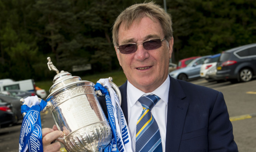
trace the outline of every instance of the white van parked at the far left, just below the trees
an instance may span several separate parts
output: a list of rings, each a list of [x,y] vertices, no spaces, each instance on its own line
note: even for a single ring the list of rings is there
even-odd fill
[[[35,83],[33,79],[13,81],[11,79],[0,80],[0,91],[7,90],[23,90],[23,91],[34,91]]]

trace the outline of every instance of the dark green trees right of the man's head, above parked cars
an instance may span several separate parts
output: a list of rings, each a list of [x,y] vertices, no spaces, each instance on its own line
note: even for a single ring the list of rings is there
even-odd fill
[[[174,0],[173,18],[176,62],[196,55],[216,54],[255,43],[256,3],[253,0]]]

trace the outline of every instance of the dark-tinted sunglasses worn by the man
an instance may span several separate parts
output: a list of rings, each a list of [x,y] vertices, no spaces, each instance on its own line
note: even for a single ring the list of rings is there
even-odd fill
[[[143,45],[144,49],[146,50],[155,50],[158,49],[162,46],[162,41],[165,38],[163,38],[162,40],[160,38],[156,38],[156,39],[150,39],[150,40],[146,40],[142,43],[128,43],[128,44],[123,44],[123,45],[119,45],[117,47],[117,49],[120,51],[120,53],[122,54],[130,54],[130,53],[134,53],[137,51],[137,46],[138,45]]]

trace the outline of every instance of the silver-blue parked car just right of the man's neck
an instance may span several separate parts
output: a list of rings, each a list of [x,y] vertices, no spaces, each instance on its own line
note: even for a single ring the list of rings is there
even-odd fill
[[[212,55],[198,57],[195,60],[193,60],[192,62],[190,62],[187,65],[187,67],[174,70],[174,71],[170,72],[169,74],[171,75],[171,77],[173,77],[175,79],[183,80],[183,81],[187,81],[188,79],[192,79],[192,78],[194,78],[194,79],[200,78],[200,68],[201,68],[204,60],[210,56],[212,56]]]

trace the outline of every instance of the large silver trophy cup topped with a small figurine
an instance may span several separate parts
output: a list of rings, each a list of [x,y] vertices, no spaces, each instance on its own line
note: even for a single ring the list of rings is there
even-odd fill
[[[100,152],[112,139],[112,130],[97,99],[103,96],[95,90],[95,84],[82,81],[69,72],[58,71],[48,57],[49,70],[56,71],[49,89],[50,101],[43,111],[49,109],[58,129],[65,131],[61,139],[70,152]],[[121,102],[118,87],[109,78],[112,88]],[[46,99],[46,100],[47,100]],[[21,100],[22,103],[23,100]],[[120,103],[121,104],[121,103]],[[68,134],[67,134],[68,133]]]

